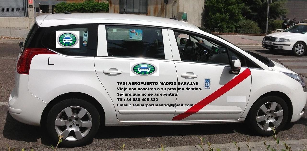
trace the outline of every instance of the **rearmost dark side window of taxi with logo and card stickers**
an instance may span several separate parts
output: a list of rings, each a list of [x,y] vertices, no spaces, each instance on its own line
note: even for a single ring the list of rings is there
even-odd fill
[[[97,56],[98,24],[48,27],[42,44],[69,56]]]

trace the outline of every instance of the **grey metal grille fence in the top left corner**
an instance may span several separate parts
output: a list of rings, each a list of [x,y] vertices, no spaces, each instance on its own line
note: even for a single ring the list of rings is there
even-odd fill
[[[27,0],[0,0],[0,17],[27,16]]]

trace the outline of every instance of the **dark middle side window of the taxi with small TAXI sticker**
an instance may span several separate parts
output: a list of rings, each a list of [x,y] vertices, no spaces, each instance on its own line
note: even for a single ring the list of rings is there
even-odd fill
[[[164,59],[162,30],[135,26],[106,26],[108,56]]]

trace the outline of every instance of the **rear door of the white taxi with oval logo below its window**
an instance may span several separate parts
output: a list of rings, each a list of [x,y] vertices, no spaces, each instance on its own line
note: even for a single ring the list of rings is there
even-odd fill
[[[177,73],[167,29],[99,25],[97,76],[120,121],[169,121]],[[171,89],[173,88],[173,89]]]

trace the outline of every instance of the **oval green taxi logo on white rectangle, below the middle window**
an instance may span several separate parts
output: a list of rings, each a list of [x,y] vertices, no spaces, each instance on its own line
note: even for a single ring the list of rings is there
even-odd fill
[[[157,65],[130,62],[130,76],[159,76]]]

